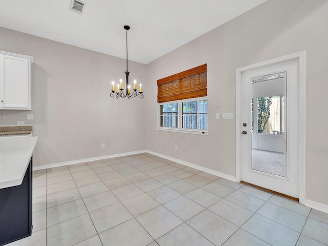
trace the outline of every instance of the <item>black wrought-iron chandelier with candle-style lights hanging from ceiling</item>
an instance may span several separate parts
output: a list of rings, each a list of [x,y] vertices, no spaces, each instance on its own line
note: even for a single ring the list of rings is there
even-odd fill
[[[122,79],[119,80],[119,84],[117,84],[117,89],[115,91],[115,82],[112,82],[112,93],[110,94],[111,97],[116,97],[117,99],[119,97],[128,97],[129,99],[131,97],[140,96],[140,98],[143,98],[144,95],[142,94],[142,87],[141,84],[139,85],[139,91],[137,90],[137,81],[134,80],[134,86],[133,89],[131,89],[129,85],[129,71],[128,71],[128,30],[130,29],[129,26],[124,26],[124,29],[127,30],[127,71],[125,71],[126,75],[126,92],[124,93],[123,85],[122,85]]]

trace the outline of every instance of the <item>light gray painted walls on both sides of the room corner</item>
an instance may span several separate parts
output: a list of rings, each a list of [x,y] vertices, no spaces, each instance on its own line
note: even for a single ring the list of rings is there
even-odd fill
[[[269,0],[148,65],[131,62],[131,78],[145,90],[132,102],[109,98],[124,60],[0,28],[0,50],[35,60],[35,165],[148,149],[235,176],[235,120],[215,113],[235,116],[236,68],[306,50],[306,199],[328,205],[326,13],[326,0]],[[156,80],[205,63],[209,135],[156,131]],[[26,121],[27,113],[0,111],[0,124]]]

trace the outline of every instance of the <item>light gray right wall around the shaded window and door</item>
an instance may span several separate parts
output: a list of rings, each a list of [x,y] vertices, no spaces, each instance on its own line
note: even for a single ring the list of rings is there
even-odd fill
[[[235,176],[236,68],[306,51],[306,199],[328,205],[328,1],[269,0],[148,65],[146,148]],[[156,131],[156,80],[208,64],[209,135]],[[219,109],[216,106],[219,105]],[[179,150],[174,149],[179,146]]]

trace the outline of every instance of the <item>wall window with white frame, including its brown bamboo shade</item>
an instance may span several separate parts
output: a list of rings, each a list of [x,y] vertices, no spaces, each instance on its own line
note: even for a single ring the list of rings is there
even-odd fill
[[[158,130],[207,133],[207,65],[157,80]]]

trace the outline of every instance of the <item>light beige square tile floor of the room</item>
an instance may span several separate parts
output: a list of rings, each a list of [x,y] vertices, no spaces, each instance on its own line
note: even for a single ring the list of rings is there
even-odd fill
[[[34,171],[33,224],[8,245],[328,245],[328,214],[147,153]]]

